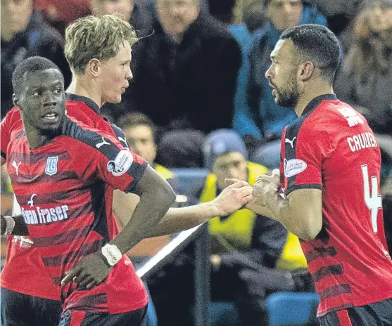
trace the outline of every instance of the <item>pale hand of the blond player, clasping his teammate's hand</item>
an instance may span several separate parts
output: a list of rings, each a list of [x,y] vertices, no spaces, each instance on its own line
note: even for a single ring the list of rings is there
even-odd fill
[[[226,179],[225,182],[229,186],[213,200],[218,216],[232,214],[252,200],[253,188],[249,183],[237,179]]]

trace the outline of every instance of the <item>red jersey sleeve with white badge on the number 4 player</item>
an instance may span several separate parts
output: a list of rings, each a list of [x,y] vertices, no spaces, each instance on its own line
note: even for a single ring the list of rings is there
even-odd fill
[[[329,152],[328,133],[312,131],[303,124],[301,129],[286,129],[282,138],[286,195],[296,189],[322,189],[322,162]]]

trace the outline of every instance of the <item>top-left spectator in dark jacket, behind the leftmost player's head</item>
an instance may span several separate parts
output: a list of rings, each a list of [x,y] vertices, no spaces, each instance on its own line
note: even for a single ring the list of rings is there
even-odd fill
[[[25,58],[44,56],[56,63],[70,82],[70,68],[63,54],[64,40],[42,20],[32,0],[1,1],[1,117],[13,107],[11,77]]]

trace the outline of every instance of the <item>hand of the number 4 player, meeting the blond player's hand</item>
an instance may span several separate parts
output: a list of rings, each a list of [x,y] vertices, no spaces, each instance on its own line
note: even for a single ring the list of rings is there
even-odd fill
[[[270,206],[279,196],[280,174],[278,169],[272,171],[272,176],[260,174],[253,185],[253,203],[262,207]]]

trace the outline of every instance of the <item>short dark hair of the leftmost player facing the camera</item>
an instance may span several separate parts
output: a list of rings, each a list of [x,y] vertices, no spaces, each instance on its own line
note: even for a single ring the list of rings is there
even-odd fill
[[[34,72],[38,70],[56,69],[61,73],[60,68],[51,62],[51,60],[40,56],[34,56],[23,60],[13,71],[12,86],[13,92],[19,94],[22,89],[23,77],[25,72]],[[61,73],[61,76],[63,74]],[[64,79],[64,77],[63,77]]]

